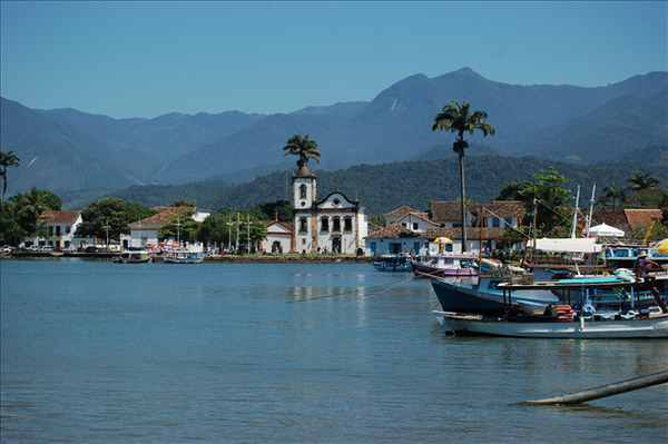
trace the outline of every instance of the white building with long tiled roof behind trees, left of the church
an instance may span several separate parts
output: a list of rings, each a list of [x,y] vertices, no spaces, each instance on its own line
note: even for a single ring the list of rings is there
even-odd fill
[[[204,221],[210,215],[210,211],[198,210],[195,207],[155,207],[154,209],[159,213],[130,224],[130,235],[122,235],[120,239],[124,248],[144,248],[149,244],[158,246],[161,241],[179,241],[178,235],[177,239],[161,239],[158,236],[158,230],[167,225],[173,225],[174,218],[177,223],[179,219],[186,220],[188,218]],[[203,248],[204,246],[199,243],[188,245],[190,250],[200,251]]]

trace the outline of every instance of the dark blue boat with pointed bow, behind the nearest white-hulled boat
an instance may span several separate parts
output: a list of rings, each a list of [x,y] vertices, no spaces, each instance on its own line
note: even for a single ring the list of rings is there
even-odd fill
[[[541,314],[550,304],[559,302],[549,289],[522,292],[509,302],[499,285],[508,279],[531,280],[530,274],[503,276],[483,275],[471,278],[432,279],[432,288],[444,312],[500,316],[507,309],[517,313]]]

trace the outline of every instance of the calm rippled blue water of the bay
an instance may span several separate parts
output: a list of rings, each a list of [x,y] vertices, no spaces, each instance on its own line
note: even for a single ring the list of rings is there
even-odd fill
[[[0,262],[2,443],[666,442],[664,341],[443,334],[371,265]],[[409,278],[409,280],[405,280]]]

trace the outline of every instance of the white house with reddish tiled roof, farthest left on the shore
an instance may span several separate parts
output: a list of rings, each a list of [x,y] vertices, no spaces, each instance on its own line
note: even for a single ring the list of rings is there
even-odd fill
[[[43,211],[38,219],[45,224],[47,237],[28,238],[24,247],[49,246],[53,249],[77,249],[95,245],[94,238],[77,238],[77,227],[84,223],[81,211]]]

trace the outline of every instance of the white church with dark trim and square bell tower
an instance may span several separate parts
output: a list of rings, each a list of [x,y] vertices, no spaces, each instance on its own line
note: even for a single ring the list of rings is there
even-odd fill
[[[317,200],[316,177],[305,162],[293,174],[294,233],[292,250],[297,253],[363,251],[366,215],[357,199],[333,191]]]

